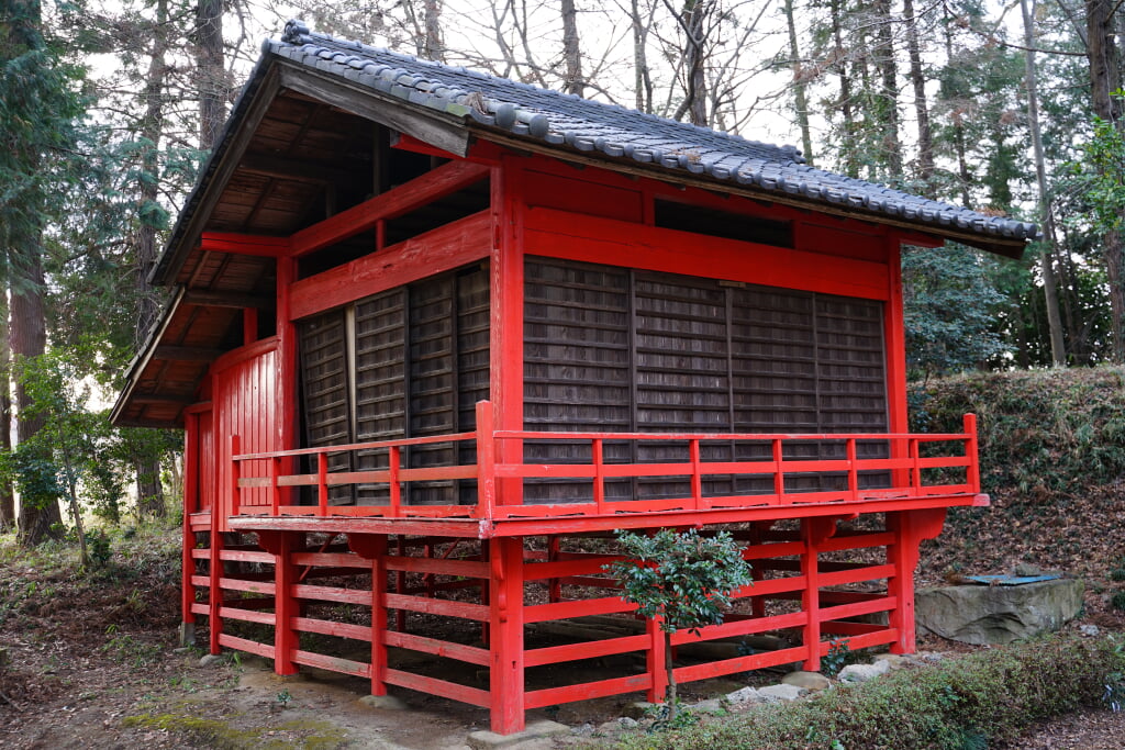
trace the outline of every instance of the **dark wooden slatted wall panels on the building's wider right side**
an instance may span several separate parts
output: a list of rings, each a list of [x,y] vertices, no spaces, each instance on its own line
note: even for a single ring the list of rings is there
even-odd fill
[[[882,302],[684,274],[529,257],[524,423],[546,432],[825,433],[886,430]],[[766,459],[766,443],[704,444],[701,460]],[[786,459],[844,458],[794,445]],[[862,444],[861,458],[885,455]],[[590,443],[528,441],[529,463],[588,462]],[[839,455],[836,455],[836,453]],[[604,460],[687,460],[686,443],[606,442]],[[885,484],[864,477],[864,486]],[[845,477],[794,476],[786,491]],[[770,477],[710,477],[703,494],[765,494]],[[608,499],[690,493],[688,479],[606,482]],[[526,480],[525,503],[590,501],[591,482]]]

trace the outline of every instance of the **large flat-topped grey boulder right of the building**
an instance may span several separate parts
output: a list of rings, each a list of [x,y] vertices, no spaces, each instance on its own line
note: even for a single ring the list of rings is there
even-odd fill
[[[1011,643],[1058,631],[1082,608],[1082,581],[919,589],[918,633],[963,643]]]

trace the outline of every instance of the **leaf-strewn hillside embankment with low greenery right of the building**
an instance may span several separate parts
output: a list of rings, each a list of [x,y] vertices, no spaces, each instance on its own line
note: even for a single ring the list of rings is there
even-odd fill
[[[1092,622],[1120,627],[1125,369],[973,373],[911,387],[912,430],[955,432],[965,413],[978,418],[992,506],[951,509],[922,548],[921,582],[1019,564],[1061,571],[1086,579]]]

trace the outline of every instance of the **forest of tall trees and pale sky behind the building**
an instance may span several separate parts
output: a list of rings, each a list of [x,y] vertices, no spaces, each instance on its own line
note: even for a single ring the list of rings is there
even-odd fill
[[[1036,222],[1023,262],[904,252],[925,381],[1125,361],[1123,6],[0,0],[0,532],[35,545],[81,539],[91,515],[173,513],[180,435],[112,427],[104,407],[160,316],[164,236],[289,17]]]

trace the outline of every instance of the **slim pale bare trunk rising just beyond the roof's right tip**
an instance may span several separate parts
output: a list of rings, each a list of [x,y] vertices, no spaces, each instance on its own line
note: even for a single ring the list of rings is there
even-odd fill
[[[907,0],[909,2],[909,0]],[[1059,292],[1055,283],[1054,255],[1055,232],[1054,217],[1051,215],[1051,204],[1047,198],[1046,166],[1043,163],[1043,138],[1040,135],[1040,99],[1035,75],[1035,0],[1028,7],[1028,0],[1019,0],[1024,15],[1024,53],[1027,65],[1027,125],[1032,132],[1032,148],[1035,153],[1035,179],[1038,183],[1040,222],[1043,225],[1043,240],[1040,251],[1040,266],[1043,270],[1043,295],[1047,308],[1047,328],[1051,333],[1051,361],[1055,367],[1066,364],[1066,349],[1062,338],[1062,318],[1059,315]]]

